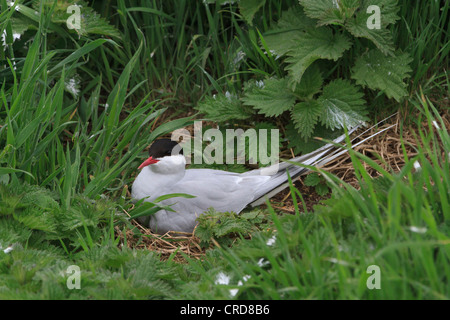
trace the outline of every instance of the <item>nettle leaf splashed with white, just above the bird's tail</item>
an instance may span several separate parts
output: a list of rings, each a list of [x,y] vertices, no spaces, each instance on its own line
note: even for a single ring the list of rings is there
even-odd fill
[[[363,93],[348,80],[337,79],[323,88],[318,102],[321,122],[332,130],[352,127],[367,120]]]

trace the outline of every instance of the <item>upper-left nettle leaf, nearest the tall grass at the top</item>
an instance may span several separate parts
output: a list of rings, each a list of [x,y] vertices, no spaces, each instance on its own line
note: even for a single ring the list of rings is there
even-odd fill
[[[276,27],[264,34],[264,41],[274,54],[282,56],[297,46],[307,30],[316,27],[316,20],[305,15],[299,6],[283,12]]]

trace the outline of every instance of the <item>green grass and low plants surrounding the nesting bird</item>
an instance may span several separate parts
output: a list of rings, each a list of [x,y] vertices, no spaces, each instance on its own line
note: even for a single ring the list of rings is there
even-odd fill
[[[0,1],[0,34],[6,30],[9,44],[0,48],[0,298],[450,298],[450,138],[436,110],[448,108],[447,3],[400,1],[395,43],[414,57],[407,104],[420,115],[410,117],[419,128],[417,155],[402,150],[401,172],[349,150],[360,190],[321,172],[332,199],[308,212],[291,186],[296,214],[269,206],[261,231],[250,225],[253,213],[227,215],[230,230],[242,233],[232,247],[212,214],[202,222],[202,240],[216,237],[222,247],[183,264],[122,247],[114,232],[139,237],[123,210],[142,212],[130,210],[127,188],[143,150],[189,124],[179,114],[192,112],[202,96],[281,75],[258,32],[297,2],[267,0],[253,26],[237,5],[111,3],[93,7],[111,17],[120,37],[79,38],[46,13],[29,14],[34,27],[13,42],[19,14]],[[233,64],[241,51],[245,58]],[[78,95],[66,85],[76,75]],[[374,97],[373,105],[382,102]],[[370,178],[363,163],[381,177]],[[80,267],[80,290],[67,288],[70,265]],[[367,288],[371,265],[380,268],[380,290]]]

